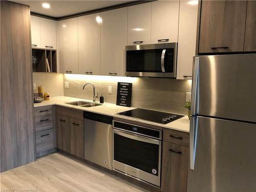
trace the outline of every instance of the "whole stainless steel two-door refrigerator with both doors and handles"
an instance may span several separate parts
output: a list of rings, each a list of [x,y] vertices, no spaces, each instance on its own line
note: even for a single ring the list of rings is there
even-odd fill
[[[256,191],[256,54],[194,57],[188,192]]]

